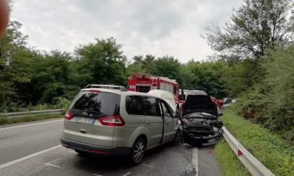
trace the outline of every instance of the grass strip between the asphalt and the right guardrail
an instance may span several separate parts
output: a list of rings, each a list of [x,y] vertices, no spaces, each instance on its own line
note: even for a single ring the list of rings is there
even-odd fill
[[[223,174],[226,176],[250,176],[251,174],[242,165],[241,161],[237,159],[237,156],[230,145],[223,139],[218,142],[215,148],[216,158],[220,164]]]

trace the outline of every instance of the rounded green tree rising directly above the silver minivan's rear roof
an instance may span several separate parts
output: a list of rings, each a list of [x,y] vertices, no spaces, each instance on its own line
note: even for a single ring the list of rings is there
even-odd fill
[[[83,80],[80,85],[115,84],[126,85],[125,63],[127,61],[122,45],[114,38],[99,39],[95,43],[76,48],[78,63],[76,69]]]

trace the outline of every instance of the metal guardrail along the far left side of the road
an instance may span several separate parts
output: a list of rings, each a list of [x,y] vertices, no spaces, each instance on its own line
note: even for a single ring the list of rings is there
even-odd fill
[[[29,112],[10,112],[10,113],[1,113],[0,116],[8,117],[8,119],[14,119],[19,117],[29,117],[29,116],[36,116],[36,115],[57,115],[64,113],[64,109],[59,110],[35,110]]]

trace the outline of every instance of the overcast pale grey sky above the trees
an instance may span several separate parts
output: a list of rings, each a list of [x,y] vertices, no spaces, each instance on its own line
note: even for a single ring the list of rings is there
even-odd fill
[[[212,54],[200,37],[220,26],[241,0],[13,0],[11,19],[23,24],[29,45],[72,52],[94,38],[113,36],[124,54],[172,55],[181,62]]]

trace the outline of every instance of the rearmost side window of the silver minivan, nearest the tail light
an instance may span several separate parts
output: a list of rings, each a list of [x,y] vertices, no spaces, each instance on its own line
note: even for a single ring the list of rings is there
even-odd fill
[[[141,96],[126,96],[125,109],[129,115],[144,115],[144,105]]]

